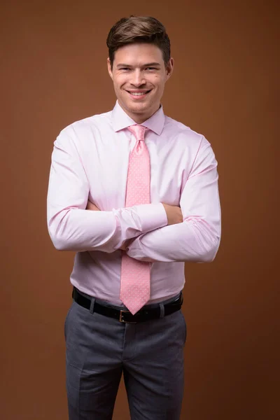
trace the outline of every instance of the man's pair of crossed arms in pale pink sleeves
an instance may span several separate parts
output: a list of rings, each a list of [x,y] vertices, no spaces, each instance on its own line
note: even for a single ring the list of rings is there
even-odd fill
[[[125,249],[143,261],[214,259],[221,236],[217,163],[204,140],[181,193],[180,207],[141,204],[98,211],[71,138],[55,141],[48,188],[48,230],[61,251]],[[94,210],[94,211],[88,211]]]

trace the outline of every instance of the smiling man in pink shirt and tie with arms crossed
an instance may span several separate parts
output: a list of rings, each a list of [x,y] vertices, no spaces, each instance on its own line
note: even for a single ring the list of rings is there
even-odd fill
[[[55,141],[48,229],[76,251],[65,321],[69,419],[111,419],[124,374],[133,420],[177,420],[183,396],[184,261],[209,262],[221,235],[209,142],[163,113],[169,37],[123,18],[107,38],[113,111]]]

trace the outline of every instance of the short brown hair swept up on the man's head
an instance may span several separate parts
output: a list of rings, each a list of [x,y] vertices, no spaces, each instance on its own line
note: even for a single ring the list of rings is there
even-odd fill
[[[158,19],[151,16],[133,16],[122,18],[111,27],[107,36],[111,67],[118,48],[130,43],[153,43],[162,50],[165,65],[170,59],[170,40],[165,27]]]

